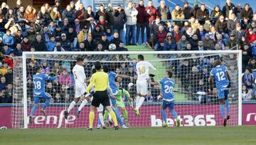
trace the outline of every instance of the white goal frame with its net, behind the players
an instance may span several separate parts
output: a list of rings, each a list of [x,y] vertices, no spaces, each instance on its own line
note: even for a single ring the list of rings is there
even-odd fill
[[[31,82],[28,79],[28,74],[32,69],[28,70],[28,65],[31,59],[38,59],[38,62],[50,62],[54,63],[56,60],[65,61],[70,64],[70,68],[72,69],[75,64],[75,58],[80,56],[90,56],[87,57],[87,62],[95,62],[100,56],[105,56],[104,59],[101,60],[102,64],[110,63],[110,65],[121,67],[122,62],[125,63],[124,69],[128,70],[129,67],[132,67],[132,61],[134,58],[137,58],[138,54],[143,54],[144,59],[146,61],[151,62],[154,66],[156,65],[156,71],[150,71],[151,74],[155,74],[154,76],[157,79],[162,79],[166,70],[171,69],[172,71],[177,71],[174,73],[174,79],[177,81],[178,86],[176,86],[176,96],[178,100],[176,100],[176,108],[178,116],[183,119],[183,126],[211,126],[211,125],[220,125],[220,109],[218,102],[215,101],[216,97],[212,94],[210,97],[203,96],[198,93],[197,89],[200,89],[200,83],[198,81],[201,80],[201,76],[191,76],[192,71],[187,71],[186,74],[190,77],[189,82],[196,80],[196,85],[193,86],[188,84],[188,82],[183,83],[182,81],[182,65],[185,61],[191,63],[192,60],[198,60],[200,64],[190,64],[191,68],[198,69],[197,71],[203,72],[204,69],[210,69],[213,66],[210,64],[210,59],[213,58],[219,59],[220,57],[223,59],[223,62],[227,65],[232,65],[235,67],[235,71],[238,71],[237,74],[231,76],[231,79],[235,78],[235,88],[233,89],[232,97],[230,97],[230,112],[231,112],[231,120],[230,125],[242,125],[242,51],[240,50],[218,50],[218,51],[142,51],[142,52],[23,52],[23,57],[14,59],[14,66],[16,69],[14,70],[14,105],[12,107],[12,125],[14,128],[55,128],[55,127],[85,127],[88,123],[88,106],[87,104],[84,108],[83,118],[76,118],[75,111],[71,112],[73,116],[70,116],[70,120],[64,120],[63,113],[64,109],[68,108],[70,102],[67,98],[64,98],[62,103],[51,103],[51,107],[46,108],[46,112],[49,112],[48,117],[36,116],[35,122],[30,126],[28,124],[28,115],[31,110],[32,104],[28,103],[28,93],[31,93],[30,89],[28,89],[28,85]],[[111,59],[110,56],[123,56],[129,55],[129,59],[125,60],[114,60]],[[233,55],[233,57],[230,57]],[[106,59],[107,58],[107,59]],[[205,65],[201,65],[201,62],[206,63]],[[21,63],[21,64],[19,64]],[[118,63],[118,64],[117,64]],[[121,64],[120,64],[121,63]],[[196,62],[195,62],[196,63]],[[39,63],[38,63],[39,64]],[[35,65],[38,65],[35,64]],[[209,67],[208,67],[209,66]],[[52,66],[54,67],[54,66]],[[90,65],[87,66],[90,69]],[[196,68],[195,68],[196,67]],[[68,71],[72,76],[72,70]],[[22,76],[22,80],[18,81],[18,77]],[[86,76],[90,76],[86,74]],[[203,76],[202,76],[203,77]],[[71,77],[72,78],[72,77]],[[136,77],[135,77],[136,78]],[[88,77],[87,77],[88,79]],[[192,80],[192,81],[191,81]],[[203,80],[203,79],[202,79]],[[22,82],[22,83],[21,83]],[[126,80],[122,80],[120,82],[126,82]],[[134,81],[133,81],[134,82]],[[136,81],[135,81],[136,82]],[[135,83],[132,83],[135,85]],[[203,84],[207,88],[207,84]],[[22,89],[21,89],[22,86]],[[128,86],[124,85],[124,88]],[[69,86],[70,90],[74,85]],[[160,86],[161,87],[161,86]],[[190,88],[189,90],[186,88]],[[66,88],[65,88],[66,89]],[[151,88],[151,92],[154,89]],[[193,90],[193,91],[192,91]],[[196,90],[196,91],[195,91]],[[207,90],[207,89],[206,89]],[[67,91],[66,91],[67,92]],[[73,95],[73,91],[70,92]],[[130,92],[131,93],[131,92]],[[154,94],[149,94],[152,96],[153,100],[145,101],[142,105],[142,112],[140,117],[135,117],[132,108],[129,107],[127,100],[123,98],[125,104],[127,105],[127,111],[129,114],[129,122],[134,127],[156,127],[160,126],[161,122],[161,91],[157,96],[153,96]],[[160,96],[160,97],[159,97]],[[65,96],[64,96],[65,97]],[[54,98],[54,96],[53,96]],[[70,99],[68,98],[68,99]],[[30,98],[33,100],[33,98]],[[204,100],[202,100],[204,99]],[[134,98],[135,100],[135,98]],[[79,106],[76,105],[76,107]],[[144,106],[144,107],[143,107]],[[21,109],[22,108],[22,109]],[[38,109],[40,110],[40,109]],[[58,111],[57,111],[58,110]],[[154,112],[156,111],[156,112]],[[39,112],[39,111],[38,111]],[[38,113],[36,112],[36,113]],[[59,116],[58,116],[59,115]],[[171,114],[168,117],[171,118]],[[79,121],[76,121],[79,120]],[[174,125],[174,120],[169,120],[170,126]],[[75,122],[75,123],[74,123]],[[95,121],[97,122],[97,121]],[[53,124],[51,124],[53,123]],[[55,123],[55,124],[54,124]]]

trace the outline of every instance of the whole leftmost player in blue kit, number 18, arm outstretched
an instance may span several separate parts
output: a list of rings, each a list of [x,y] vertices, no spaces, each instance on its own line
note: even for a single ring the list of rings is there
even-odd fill
[[[51,96],[50,94],[46,93],[45,91],[45,85],[46,80],[53,81],[57,79],[57,76],[48,76],[46,74],[42,73],[40,67],[36,68],[36,74],[33,75],[33,95],[34,95],[34,105],[31,110],[31,114],[29,115],[29,123],[32,123],[32,117],[36,112],[36,109],[38,108],[38,103],[40,103],[41,99],[46,99],[46,102],[43,104],[43,108],[41,109],[41,112],[43,115],[46,115],[46,107],[50,104]]]

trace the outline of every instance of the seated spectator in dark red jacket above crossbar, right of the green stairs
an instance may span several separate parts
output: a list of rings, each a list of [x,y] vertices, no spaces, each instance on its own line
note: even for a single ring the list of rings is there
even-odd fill
[[[166,40],[166,30],[164,30],[164,26],[160,25],[159,30],[155,34],[155,45],[154,50],[164,50],[164,41]]]

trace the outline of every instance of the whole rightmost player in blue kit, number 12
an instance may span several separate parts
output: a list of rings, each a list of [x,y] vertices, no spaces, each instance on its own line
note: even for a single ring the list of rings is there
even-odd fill
[[[210,71],[210,91],[213,91],[213,78],[216,81],[218,99],[220,101],[220,112],[223,117],[223,126],[227,125],[227,120],[230,119],[230,106],[228,103],[228,91],[231,86],[230,75],[228,74],[227,66],[221,64],[220,60],[215,62],[215,67]],[[225,105],[225,107],[224,107]],[[225,108],[227,117],[225,117]]]

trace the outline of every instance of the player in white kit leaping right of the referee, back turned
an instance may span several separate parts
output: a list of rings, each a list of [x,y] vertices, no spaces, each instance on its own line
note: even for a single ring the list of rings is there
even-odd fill
[[[148,93],[148,80],[149,80],[149,69],[156,68],[149,62],[144,61],[144,56],[142,54],[138,55],[138,62],[136,64],[137,69],[137,98],[136,98],[136,108],[134,112],[139,116],[139,108],[142,106],[145,96]]]

